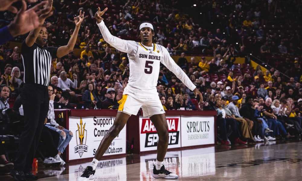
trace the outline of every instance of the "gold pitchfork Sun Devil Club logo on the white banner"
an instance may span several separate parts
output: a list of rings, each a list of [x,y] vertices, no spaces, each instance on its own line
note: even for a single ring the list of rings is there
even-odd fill
[[[82,118],[80,119],[80,125],[77,123],[78,126],[78,130],[76,130],[77,146],[74,149],[75,149],[75,153],[79,153],[80,157],[82,157],[83,153],[87,152],[88,150],[88,146],[85,145],[87,139],[87,131],[85,130],[85,124],[83,125]]]

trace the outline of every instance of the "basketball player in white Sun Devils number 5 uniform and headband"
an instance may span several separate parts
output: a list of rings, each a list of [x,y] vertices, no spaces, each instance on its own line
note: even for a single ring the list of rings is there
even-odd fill
[[[86,167],[79,181],[87,181],[88,179],[94,178],[98,161],[112,140],[124,128],[128,118],[132,114],[136,115],[140,107],[143,109],[143,116],[148,116],[153,122],[159,136],[157,159],[152,176],[155,178],[177,179],[178,175],[169,172],[163,165],[168,148],[169,132],[165,111],[156,90],[160,63],[165,65],[182,80],[188,88],[193,90],[195,97],[197,97],[197,95],[200,96],[199,103],[202,102],[203,97],[185,72],[183,72],[170,57],[168,50],[161,45],[152,43],[152,39],[156,34],[153,24],[150,22],[140,23],[137,35],[140,37],[141,42],[121,40],[120,38],[112,36],[105,26],[104,21],[102,21],[103,18],[101,16],[107,9],[108,8],[105,8],[104,11],[101,11],[100,8],[98,8],[98,11],[95,13],[97,25],[106,42],[121,52],[127,52],[130,77],[127,87],[124,89],[123,97],[119,101],[120,106],[114,124],[102,139],[91,165]]]

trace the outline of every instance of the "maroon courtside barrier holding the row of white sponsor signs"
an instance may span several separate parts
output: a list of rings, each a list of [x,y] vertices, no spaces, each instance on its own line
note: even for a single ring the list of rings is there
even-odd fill
[[[89,160],[114,123],[117,110],[55,110],[57,122],[72,131],[64,158],[67,162]],[[166,111],[168,150],[196,148],[216,143],[216,111]],[[112,141],[104,157],[128,153],[156,152],[158,135],[149,118],[130,116],[126,126]],[[128,144],[127,144],[128,142]]]

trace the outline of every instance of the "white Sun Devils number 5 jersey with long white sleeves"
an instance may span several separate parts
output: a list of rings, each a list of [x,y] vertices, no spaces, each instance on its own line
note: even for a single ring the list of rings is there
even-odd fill
[[[122,40],[111,35],[104,21],[97,25],[104,40],[121,52],[126,52],[129,58],[130,76],[123,94],[139,98],[158,97],[156,85],[160,63],[172,71],[190,90],[196,88],[165,47],[155,43],[148,47],[135,41]]]

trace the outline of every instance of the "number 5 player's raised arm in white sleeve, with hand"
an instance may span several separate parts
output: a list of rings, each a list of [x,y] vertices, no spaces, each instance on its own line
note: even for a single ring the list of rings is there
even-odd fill
[[[104,40],[114,48],[120,50],[121,52],[134,53],[133,50],[136,50],[138,47],[136,42],[122,40],[118,37],[113,36],[104,24],[104,18],[102,18],[102,15],[107,11],[107,9],[108,8],[105,8],[103,11],[101,11],[101,8],[98,7],[98,11],[95,13],[95,20],[102,33]]]

